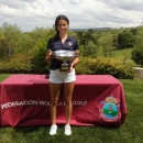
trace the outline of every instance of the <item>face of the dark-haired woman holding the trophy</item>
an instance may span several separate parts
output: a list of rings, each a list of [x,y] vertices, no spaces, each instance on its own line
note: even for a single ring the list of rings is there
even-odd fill
[[[65,20],[59,20],[57,24],[59,34],[65,34],[68,31],[68,23]]]

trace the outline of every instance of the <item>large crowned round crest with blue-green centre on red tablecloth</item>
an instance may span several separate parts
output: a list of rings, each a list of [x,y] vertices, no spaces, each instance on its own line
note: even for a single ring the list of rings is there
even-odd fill
[[[100,118],[105,121],[113,122],[121,118],[120,106],[117,105],[118,100],[114,97],[107,97],[106,101],[101,101],[102,108],[99,109]]]

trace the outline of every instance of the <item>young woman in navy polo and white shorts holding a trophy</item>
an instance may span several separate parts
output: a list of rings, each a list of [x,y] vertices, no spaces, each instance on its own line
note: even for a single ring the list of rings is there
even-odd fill
[[[76,80],[75,65],[79,62],[79,47],[78,42],[75,37],[72,37],[67,34],[69,28],[69,20],[66,15],[58,15],[55,20],[55,30],[56,35],[48,40],[46,46],[46,62],[51,63],[51,73],[50,73],[50,89],[51,89],[51,120],[52,127],[50,134],[56,134],[56,107],[58,102],[61,85],[64,84],[64,100],[65,100],[65,134],[70,135],[70,117],[73,110],[73,90]],[[62,61],[56,58],[53,54],[53,51],[74,51],[77,56],[69,62],[68,72],[61,72]]]

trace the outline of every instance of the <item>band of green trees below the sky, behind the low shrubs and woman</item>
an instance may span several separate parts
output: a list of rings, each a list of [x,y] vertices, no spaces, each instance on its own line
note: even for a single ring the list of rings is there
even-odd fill
[[[54,28],[35,28],[23,33],[16,24],[4,22],[0,26],[0,59],[14,54],[32,56],[38,48],[45,51],[47,40],[54,35]],[[143,26],[72,29],[69,35],[78,38],[81,57],[112,57],[113,51],[133,48],[132,59],[143,64]]]

